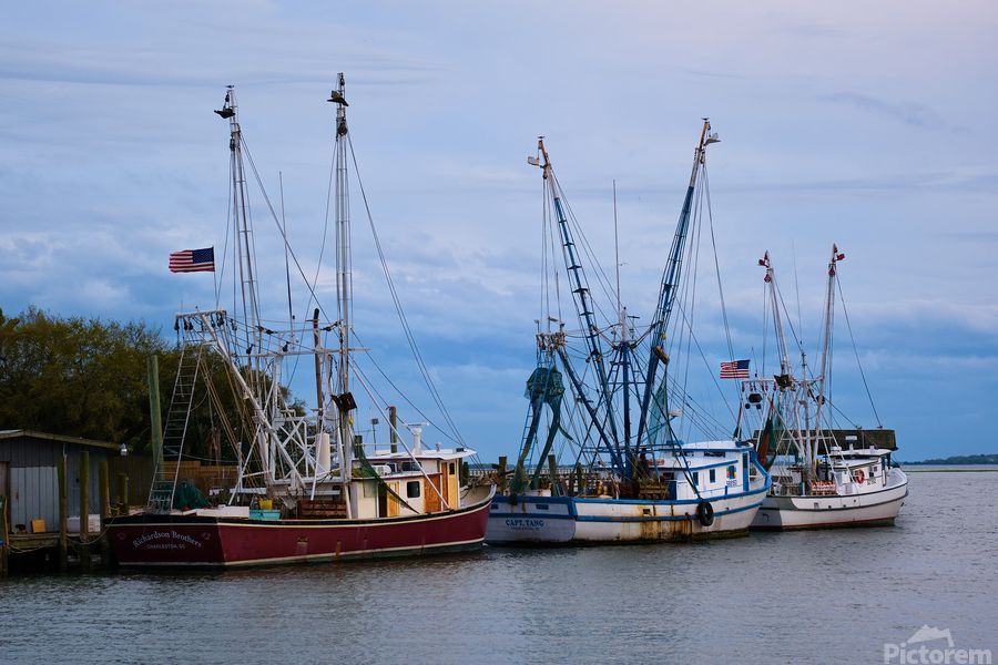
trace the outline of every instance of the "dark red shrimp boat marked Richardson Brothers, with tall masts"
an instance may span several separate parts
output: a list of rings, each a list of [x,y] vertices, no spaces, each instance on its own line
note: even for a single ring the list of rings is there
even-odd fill
[[[201,379],[208,383],[203,399],[220,405],[221,429],[230,436],[237,456],[238,477],[235,487],[224,493],[226,500],[184,510],[184,503],[196,502],[179,500],[180,464],[167,472],[160,453],[146,509],[110,523],[109,541],[120,565],[284,564],[431,554],[482,544],[495,487],[467,480],[462,462],[475,452],[459,440],[452,448],[425,447],[422,427],[427,423],[403,422],[360,370],[358,351],[367,349],[354,348],[352,325],[346,198],[350,153],[343,74],[329,101],[336,105],[337,309],[335,316],[324,319],[317,307],[310,326],[297,329],[288,313],[286,330],[272,329],[273,319],[261,317],[245,143],[232,86],[224,106],[216,111],[230,126],[231,237],[237,262],[233,293],[240,298],[233,311],[216,307],[176,315],[180,369],[164,437],[157,446],[177,461],[183,458],[191,408],[202,399],[195,397]],[[284,249],[291,253],[284,227],[276,214],[273,217]],[[387,264],[383,267],[390,280]],[[312,286],[308,288],[315,297]],[[291,301],[288,290],[288,309]],[[332,337],[334,344],[325,346],[325,337]],[[288,361],[308,357],[314,359],[316,381],[316,408],[310,416],[301,405],[289,403],[281,385]],[[221,389],[230,386],[210,383],[212,362],[224,366],[223,376],[242,405],[244,417],[238,423],[227,421],[221,407]],[[366,444],[355,431],[360,393],[369,398],[371,408],[388,415],[389,446],[383,449]],[[237,440],[240,431],[248,432],[246,446]]]

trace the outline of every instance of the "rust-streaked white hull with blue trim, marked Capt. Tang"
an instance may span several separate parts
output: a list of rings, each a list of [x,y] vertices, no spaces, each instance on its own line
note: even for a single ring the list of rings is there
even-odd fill
[[[711,498],[714,520],[696,516],[699,501],[581,497],[511,497],[492,502],[486,542],[493,545],[569,545],[684,542],[748,532],[768,482],[747,492]]]

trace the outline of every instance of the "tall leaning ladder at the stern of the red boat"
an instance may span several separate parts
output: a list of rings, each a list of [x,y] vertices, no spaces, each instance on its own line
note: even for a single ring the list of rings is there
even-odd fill
[[[181,348],[173,396],[170,399],[166,424],[163,427],[163,452],[161,459],[156,461],[156,471],[149,491],[150,512],[165,513],[173,508],[173,493],[176,491],[184,439],[194,405],[194,386],[201,370],[201,354],[204,347],[203,344],[187,344]],[[176,459],[172,474],[164,469],[163,461],[167,457]]]

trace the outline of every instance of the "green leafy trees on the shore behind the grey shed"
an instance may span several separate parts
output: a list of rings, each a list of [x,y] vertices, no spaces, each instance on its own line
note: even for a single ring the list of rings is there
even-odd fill
[[[16,317],[0,310],[0,429],[34,429],[147,452],[150,354],[159,357],[165,423],[180,352],[157,328],[144,321],[60,317],[34,307]],[[216,357],[206,365],[224,418],[237,439],[248,441],[238,410],[242,400],[235,399],[223,364]],[[218,446],[222,420],[211,400],[195,393],[185,454],[234,459],[230,446]]]

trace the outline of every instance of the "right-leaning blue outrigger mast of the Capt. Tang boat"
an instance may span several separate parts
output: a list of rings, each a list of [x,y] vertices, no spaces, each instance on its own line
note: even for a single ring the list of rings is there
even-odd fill
[[[651,351],[648,359],[648,370],[644,377],[644,395],[641,398],[641,411],[638,418],[638,442],[641,442],[648,426],[648,412],[652,393],[655,388],[655,372],[660,362],[661,345],[665,341],[665,331],[669,329],[669,317],[675,301],[680,277],[682,274],[683,250],[686,244],[686,235],[690,229],[690,215],[693,208],[693,192],[696,188],[696,176],[700,174],[706,160],[706,146],[717,143],[717,134],[711,134],[711,121],[703,119],[703,130],[700,132],[700,143],[693,153],[693,170],[690,174],[690,184],[686,187],[686,196],[683,200],[683,208],[680,212],[675,235],[672,238],[672,248],[669,252],[669,263],[662,274],[662,284],[659,288],[659,300],[655,314],[652,317]],[[658,351],[656,351],[658,349]],[[664,357],[664,355],[663,355]],[[663,361],[664,364],[664,361]],[[666,419],[668,422],[668,419]]]

